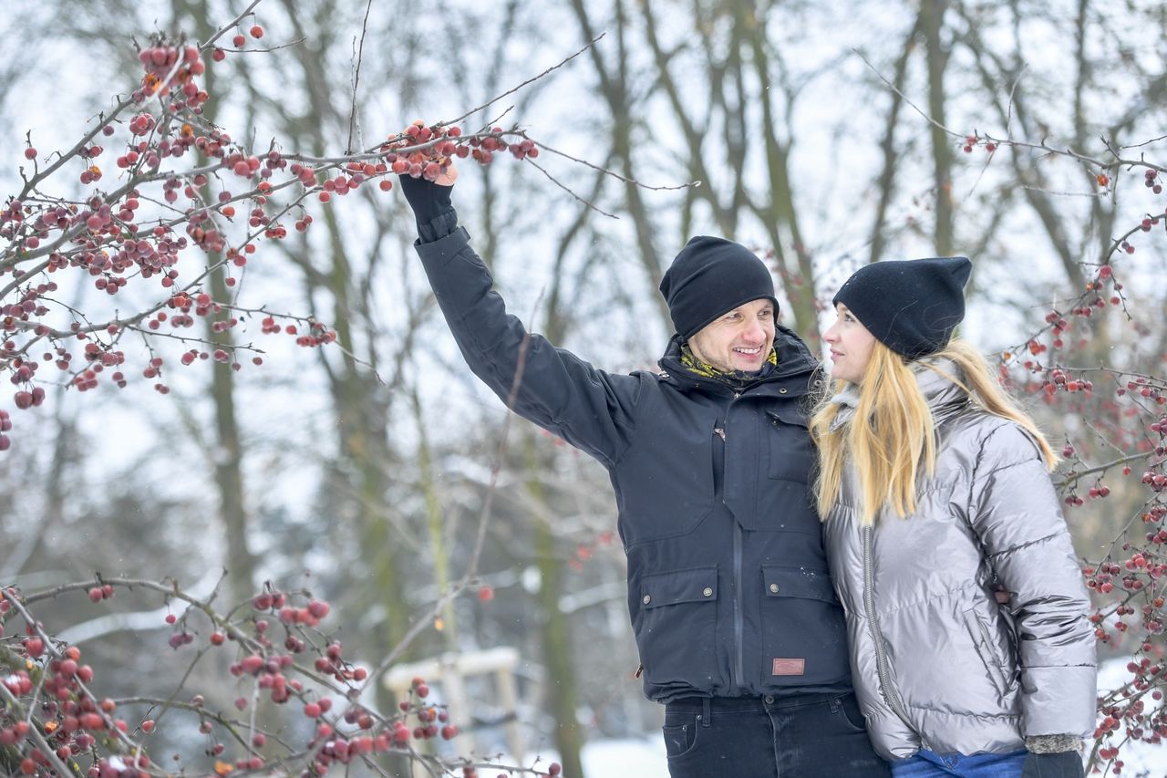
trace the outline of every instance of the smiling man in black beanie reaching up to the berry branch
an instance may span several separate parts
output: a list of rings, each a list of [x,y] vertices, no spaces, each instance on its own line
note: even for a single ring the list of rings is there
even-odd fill
[[[766,265],[729,241],[690,241],[661,282],[676,327],[662,371],[609,374],[506,313],[457,227],[453,178],[401,176],[418,253],[475,375],[506,401],[525,342],[515,411],[608,468],[670,773],[888,774],[852,695],[809,495],[802,400],[817,363],[775,324]]]

